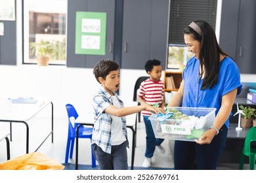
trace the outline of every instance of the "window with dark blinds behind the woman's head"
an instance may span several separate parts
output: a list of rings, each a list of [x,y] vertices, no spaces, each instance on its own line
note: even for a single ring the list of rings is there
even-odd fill
[[[192,21],[204,20],[215,29],[218,0],[172,0],[170,4],[167,69],[186,65],[187,52],[183,31]]]

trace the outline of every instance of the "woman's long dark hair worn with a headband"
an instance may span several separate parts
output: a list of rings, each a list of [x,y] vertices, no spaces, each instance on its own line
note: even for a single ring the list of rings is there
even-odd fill
[[[202,71],[200,80],[204,74],[201,89],[205,90],[208,87],[211,89],[218,82],[220,54],[224,57],[228,54],[221,50],[211,25],[202,20],[194,21],[194,23],[200,27],[201,35],[189,26],[184,29],[184,34],[192,35],[195,40],[200,42],[199,60]]]

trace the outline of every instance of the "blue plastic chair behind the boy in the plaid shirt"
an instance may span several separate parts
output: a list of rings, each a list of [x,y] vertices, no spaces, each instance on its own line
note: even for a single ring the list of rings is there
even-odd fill
[[[76,128],[79,123],[76,123],[75,120],[78,117],[77,111],[75,110],[75,107],[71,104],[66,105],[66,110],[68,112],[68,141],[67,141],[67,147],[66,147],[66,158],[65,163],[68,163],[68,156],[72,158],[73,151],[74,151],[74,142],[75,142],[75,136],[76,136]],[[71,118],[74,118],[74,125],[71,122]],[[91,139],[93,135],[93,128],[92,127],[79,127],[79,135],[78,138],[83,139]],[[92,161],[92,167],[96,167],[96,160],[93,156],[93,146],[91,146],[91,161]]]

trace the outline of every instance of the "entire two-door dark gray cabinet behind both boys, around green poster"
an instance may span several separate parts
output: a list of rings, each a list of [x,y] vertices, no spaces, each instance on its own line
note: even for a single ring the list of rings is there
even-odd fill
[[[106,55],[75,54],[75,12],[107,12]],[[165,69],[169,0],[68,0],[67,67],[93,68],[114,59],[121,69],[144,69],[160,59]]]

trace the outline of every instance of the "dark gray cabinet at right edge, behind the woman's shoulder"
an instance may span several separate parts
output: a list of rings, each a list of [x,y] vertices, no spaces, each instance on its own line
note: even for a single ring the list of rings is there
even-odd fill
[[[255,0],[223,0],[220,46],[236,61],[240,73],[256,74],[255,17]]]

